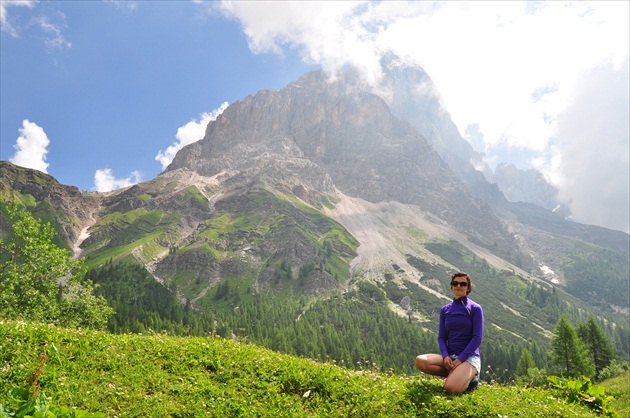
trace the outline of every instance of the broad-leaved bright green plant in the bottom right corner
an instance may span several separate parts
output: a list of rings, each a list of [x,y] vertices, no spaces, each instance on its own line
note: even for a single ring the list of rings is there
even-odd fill
[[[617,416],[610,408],[610,402],[613,397],[606,395],[605,387],[593,385],[588,377],[565,380],[558,376],[548,376],[547,381],[568,402],[587,405],[589,408],[607,417]]]

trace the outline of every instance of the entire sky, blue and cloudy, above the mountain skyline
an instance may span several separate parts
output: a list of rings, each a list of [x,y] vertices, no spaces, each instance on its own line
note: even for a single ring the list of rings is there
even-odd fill
[[[81,190],[157,176],[225,107],[307,71],[429,74],[490,168],[629,232],[628,1],[0,0],[0,159]]]

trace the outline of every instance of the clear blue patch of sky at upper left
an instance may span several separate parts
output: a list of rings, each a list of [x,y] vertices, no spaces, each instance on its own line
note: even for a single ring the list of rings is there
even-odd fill
[[[99,169],[155,177],[179,127],[308,70],[252,54],[237,22],[192,2],[41,2],[6,14],[17,35],[2,32],[1,158],[14,156],[26,119],[50,141],[46,171],[83,190]]]

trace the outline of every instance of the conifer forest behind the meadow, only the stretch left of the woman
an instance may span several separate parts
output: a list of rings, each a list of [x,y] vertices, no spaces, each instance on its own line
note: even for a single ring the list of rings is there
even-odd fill
[[[87,277],[115,309],[108,323],[115,333],[234,335],[283,353],[335,360],[348,367],[369,361],[407,373],[414,373],[416,355],[437,350],[435,333],[375,303],[370,289],[311,301],[251,296],[251,288],[225,281],[209,292],[212,304],[194,310],[140,266],[107,263]]]

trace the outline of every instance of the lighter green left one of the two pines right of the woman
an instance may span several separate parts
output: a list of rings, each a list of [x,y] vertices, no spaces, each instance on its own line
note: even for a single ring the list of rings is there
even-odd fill
[[[595,366],[569,320],[560,315],[551,339],[551,362],[566,377],[593,377]]]

